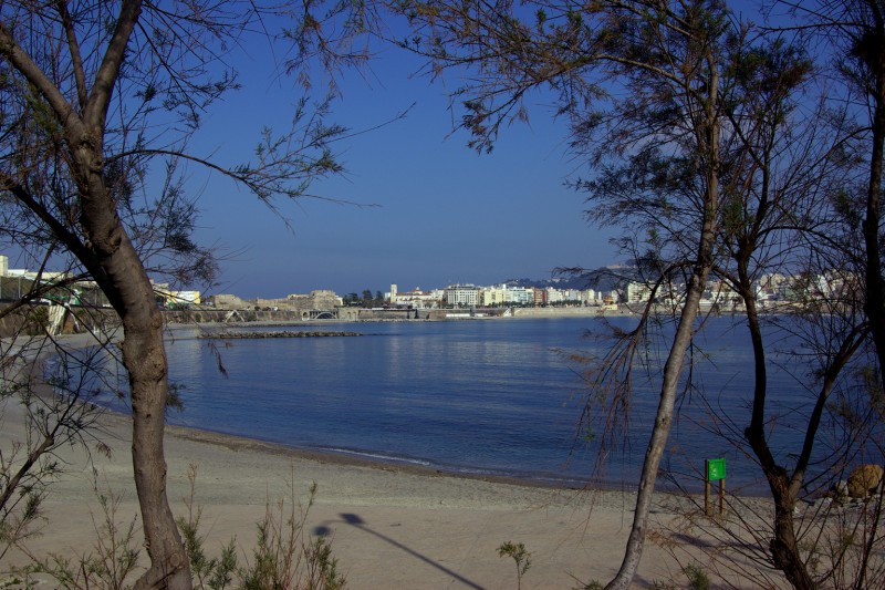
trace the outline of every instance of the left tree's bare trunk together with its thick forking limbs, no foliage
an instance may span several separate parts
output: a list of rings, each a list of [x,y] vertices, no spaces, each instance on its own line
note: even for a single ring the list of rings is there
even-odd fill
[[[0,55],[40,93],[63,130],[69,154],[64,164],[76,184],[76,199],[58,214],[23,185],[9,190],[81,260],[123,322],[123,364],[129,375],[133,407],[133,468],[150,556],[150,567],[136,588],[181,589],[190,588],[191,581],[187,553],[166,497],[163,431],[168,382],[163,319],[138,252],[117,215],[116,196],[104,178],[105,120],[140,11],[139,0],[121,2],[116,21],[108,23],[113,24],[108,27],[112,34],[88,92],[79,49],[72,45],[73,73],[80,86],[76,107],[0,22]],[[66,195],[60,203],[64,198]],[[73,230],[71,222],[77,216],[80,228]]]

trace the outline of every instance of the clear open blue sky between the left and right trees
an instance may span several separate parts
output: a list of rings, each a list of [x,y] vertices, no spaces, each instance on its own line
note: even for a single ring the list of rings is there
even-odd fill
[[[220,161],[249,156],[263,125],[285,127],[301,90],[281,79],[266,43],[238,63],[242,90],[206,115],[197,151]],[[367,130],[414,106],[406,118],[335,144],[346,172],[323,180],[317,199],[278,201],[285,224],[243,189],[191,168],[202,189],[198,239],[228,255],[214,292],[283,297],[313,289],[339,293],[490,284],[548,278],[560,266],[615,262],[603,234],[583,218],[583,198],[563,186],[581,172],[566,153],[568,130],[534,96],[531,123],[504,130],[490,155],[451,134],[446,89],[412,74],[418,62],[382,51],[368,76],[343,79],[332,121]],[[366,80],[368,77],[368,80]],[[198,287],[198,286],[197,286]]]

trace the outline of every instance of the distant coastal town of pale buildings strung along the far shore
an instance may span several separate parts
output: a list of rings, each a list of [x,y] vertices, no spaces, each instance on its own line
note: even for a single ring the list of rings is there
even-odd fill
[[[386,292],[366,289],[362,293],[339,294],[317,289],[305,294],[283,297],[240,298],[230,293],[204,293],[199,290],[176,289],[169,283],[154,282],[157,304],[169,310],[221,311],[331,311],[345,308],[384,310],[444,310],[444,309],[524,309],[524,308],[592,308],[597,312],[636,311],[649,301],[653,286],[628,280],[632,269],[612,267],[601,269],[606,273],[608,288],[575,289],[551,284],[532,286],[522,281],[507,281],[489,287],[449,284],[445,288],[400,290],[393,283]],[[611,277],[621,277],[613,280]],[[544,281],[544,282],[556,282]],[[565,281],[563,281],[565,282]],[[9,268],[9,258],[0,255],[0,300],[20,299],[38,290],[38,302],[110,307],[98,287],[91,280],[76,280],[67,272],[34,271]],[[832,298],[851,289],[841,275],[798,276],[771,273],[757,281],[756,297],[763,307],[793,306],[811,299]],[[669,284],[654,290],[654,301],[678,306],[681,284]],[[707,283],[700,306],[720,311],[742,308],[740,298],[723,280]],[[591,311],[591,310],[587,310]],[[343,318],[342,315],[336,315]],[[355,318],[354,318],[355,319]]]

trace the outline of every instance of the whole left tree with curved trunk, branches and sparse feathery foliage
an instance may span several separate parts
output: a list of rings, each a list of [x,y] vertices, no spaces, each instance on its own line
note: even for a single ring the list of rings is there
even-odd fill
[[[212,252],[181,162],[225,175],[272,204],[339,170],[327,104],[299,103],[291,130],[267,132],[256,162],[222,165],[188,151],[201,114],[237,89],[230,52],[252,31],[254,2],[0,3],[0,207],[8,245],[54,250],[94,280],[119,315],[132,405],[132,459],[150,566],[137,588],[189,588],[187,555],[166,497],[169,393],[163,318],[149,280],[211,280]],[[153,165],[153,167],[152,167]],[[148,176],[165,183],[148,183]],[[23,229],[27,228],[27,231]]]

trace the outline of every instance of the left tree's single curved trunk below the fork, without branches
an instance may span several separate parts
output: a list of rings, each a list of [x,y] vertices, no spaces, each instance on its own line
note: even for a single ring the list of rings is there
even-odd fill
[[[189,589],[190,568],[166,496],[163,433],[168,394],[168,368],[163,317],[137,251],[116,214],[104,184],[101,148],[80,137],[74,149],[81,193],[81,225],[91,257],[84,262],[119,314],[123,365],[129,377],[132,457],[150,567],[136,589]]]

